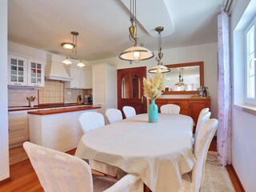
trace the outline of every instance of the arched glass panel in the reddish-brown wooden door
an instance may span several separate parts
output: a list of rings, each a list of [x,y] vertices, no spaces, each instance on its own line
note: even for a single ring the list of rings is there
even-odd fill
[[[126,74],[122,78],[122,98],[140,98],[141,85],[136,74]]]

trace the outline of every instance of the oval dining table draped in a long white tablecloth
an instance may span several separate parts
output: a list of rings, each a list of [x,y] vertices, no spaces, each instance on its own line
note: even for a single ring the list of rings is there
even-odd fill
[[[193,119],[183,114],[158,114],[156,123],[148,121],[148,114],[138,114],[88,131],[75,155],[138,174],[153,192],[178,191],[182,174],[196,162],[193,126]]]

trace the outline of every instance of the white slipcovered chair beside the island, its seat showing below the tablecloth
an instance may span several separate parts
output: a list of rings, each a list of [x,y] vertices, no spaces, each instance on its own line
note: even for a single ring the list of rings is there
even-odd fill
[[[97,112],[84,112],[80,115],[79,122],[82,126],[82,131],[84,134],[90,130],[105,126],[103,115]],[[110,175],[114,178],[118,176],[118,173],[121,174],[121,172],[123,172],[123,170],[117,166],[110,166],[104,162],[98,162],[93,159],[89,159],[89,165],[91,169],[96,170],[102,174]]]

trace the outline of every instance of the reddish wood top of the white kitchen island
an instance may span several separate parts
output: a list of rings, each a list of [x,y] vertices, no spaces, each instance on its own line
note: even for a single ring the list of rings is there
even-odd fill
[[[96,110],[101,108],[100,106],[78,106],[78,107],[70,107],[70,108],[60,108],[60,109],[52,109],[52,110],[34,110],[28,111],[28,114],[36,114],[36,115],[49,115],[49,114],[62,114],[62,113],[70,113],[79,110]]]

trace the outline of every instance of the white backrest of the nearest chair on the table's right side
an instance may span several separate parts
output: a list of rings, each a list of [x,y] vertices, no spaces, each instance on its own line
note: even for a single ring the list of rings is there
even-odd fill
[[[217,126],[218,120],[211,118],[204,122],[202,129],[198,132],[198,142],[196,142],[194,146],[194,157],[197,162],[192,170],[192,191],[199,191],[202,186],[206,155],[209,150],[210,142],[214,138]]]

